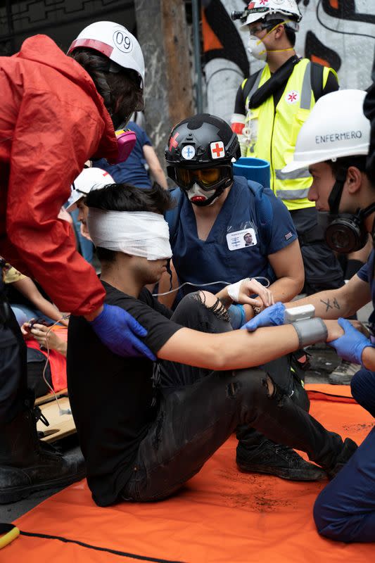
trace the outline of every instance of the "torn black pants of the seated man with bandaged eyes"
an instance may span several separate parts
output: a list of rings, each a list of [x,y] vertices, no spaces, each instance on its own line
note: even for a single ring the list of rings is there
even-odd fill
[[[224,312],[206,308],[194,293],[179,303],[172,318],[189,326],[194,322],[205,332],[230,330]],[[239,424],[304,450],[322,467],[331,467],[343,447],[338,434],[326,431],[279,388],[270,397],[262,369],[209,372],[161,362],[160,372],[158,414],[139,445],[124,500],[167,498],[198,473]]]

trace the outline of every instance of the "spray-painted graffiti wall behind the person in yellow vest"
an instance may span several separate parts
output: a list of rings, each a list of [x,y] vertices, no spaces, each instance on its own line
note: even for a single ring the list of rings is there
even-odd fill
[[[207,109],[229,120],[243,77],[264,63],[246,51],[247,32],[231,21],[243,0],[203,0],[203,49]],[[341,88],[367,89],[375,47],[374,0],[297,0],[303,19],[295,49],[338,72]]]

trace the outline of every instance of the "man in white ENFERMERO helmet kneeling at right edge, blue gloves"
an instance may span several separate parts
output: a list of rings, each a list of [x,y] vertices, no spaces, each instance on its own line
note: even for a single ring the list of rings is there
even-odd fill
[[[298,135],[295,156],[288,170],[309,166],[313,183],[309,198],[319,209],[331,248],[350,253],[362,248],[375,227],[375,85],[369,91],[342,90],[327,94],[311,112]],[[348,112],[348,108],[350,111]],[[338,134],[340,132],[340,134]],[[326,139],[328,145],[322,143]],[[372,301],[375,306],[374,250],[348,284],[321,291],[295,305],[314,305],[321,317],[348,317]],[[267,326],[266,315],[255,324]],[[262,316],[263,315],[263,316]],[[250,321],[251,322],[251,321]],[[341,358],[358,365],[350,381],[352,396],[375,417],[375,312],[369,317],[371,341],[348,320],[339,319],[345,334],[331,346]],[[272,318],[272,324],[278,324]],[[338,541],[375,541],[375,428],[336,479],[320,493],[314,505],[319,533]]]

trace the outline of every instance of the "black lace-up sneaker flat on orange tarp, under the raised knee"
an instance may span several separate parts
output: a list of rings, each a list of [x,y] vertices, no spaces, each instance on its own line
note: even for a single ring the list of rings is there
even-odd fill
[[[267,440],[256,450],[246,450],[237,446],[236,463],[240,471],[246,473],[264,473],[291,481],[319,481],[326,478],[321,467],[305,462],[297,452]]]

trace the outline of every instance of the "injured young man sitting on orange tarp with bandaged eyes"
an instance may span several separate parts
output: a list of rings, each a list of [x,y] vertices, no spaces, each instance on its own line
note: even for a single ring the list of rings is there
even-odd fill
[[[125,309],[145,327],[142,339],[155,355],[154,361],[122,358],[83,317],[70,319],[70,405],[96,504],[167,498],[239,424],[305,451],[329,478],[335,476],[357,446],[296,405],[273,383],[267,362],[338,338],[338,323],[312,318],[233,331],[227,309],[234,294],[236,302],[246,303],[253,293],[246,280],[216,295],[190,293],[172,313],[144,287],[160,279],[172,257],[163,218],[171,205],[168,192],[157,185],[148,190],[113,184],[91,191],[86,203],[105,303]]]

